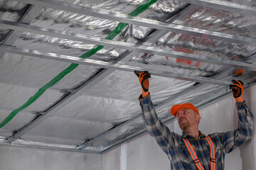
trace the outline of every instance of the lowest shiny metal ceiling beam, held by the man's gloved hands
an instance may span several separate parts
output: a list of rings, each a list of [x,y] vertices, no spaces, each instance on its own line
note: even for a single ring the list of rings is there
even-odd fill
[[[149,67],[134,67],[129,66],[126,64],[119,64],[119,63],[109,63],[109,62],[103,62],[99,60],[90,60],[90,59],[82,59],[80,57],[72,57],[68,55],[58,55],[55,53],[50,52],[40,52],[37,50],[27,50],[27,49],[21,49],[18,47],[9,47],[9,46],[0,46],[0,50],[4,52],[10,52],[17,55],[27,55],[31,57],[40,57],[44,59],[50,59],[50,60],[58,60],[63,62],[70,62],[75,64],[85,64],[90,65],[93,67],[100,67],[105,69],[117,69],[122,70],[125,72],[134,72],[134,70],[138,71],[144,71],[148,70],[152,75],[159,76],[159,77],[167,77],[167,78],[173,78],[173,79],[183,79],[186,81],[196,81],[206,84],[216,84],[220,86],[227,86],[230,84],[231,81],[226,80],[219,80],[219,79],[210,79],[207,77],[197,77],[192,75],[184,75],[184,74],[176,74],[174,72],[164,72],[164,71],[157,71],[156,69],[151,69]]]

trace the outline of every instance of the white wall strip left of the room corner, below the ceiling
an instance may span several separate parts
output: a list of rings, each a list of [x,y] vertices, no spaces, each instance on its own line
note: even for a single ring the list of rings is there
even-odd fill
[[[101,154],[0,146],[0,170],[101,170]]]

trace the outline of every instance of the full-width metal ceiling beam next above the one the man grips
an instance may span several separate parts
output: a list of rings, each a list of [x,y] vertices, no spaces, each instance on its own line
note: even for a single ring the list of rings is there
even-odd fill
[[[216,59],[213,57],[193,55],[193,54],[188,54],[185,52],[162,50],[157,47],[150,47],[150,46],[146,46],[146,45],[136,45],[136,44],[132,44],[132,43],[128,43],[128,42],[106,40],[103,38],[95,38],[95,37],[87,36],[87,35],[61,32],[58,30],[41,28],[41,27],[37,27],[37,26],[28,26],[28,25],[25,25],[22,23],[14,23],[14,22],[10,22],[10,21],[0,21],[0,26],[5,27],[5,28],[11,28],[14,30],[26,31],[29,33],[37,33],[37,34],[41,34],[41,35],[65,38],[65,39],[75,40],[75,41],[80,41],[80,42],[94,43],[97,45],[103,45],[103,46],[108,46],[108,47],[118,47],[120,49],[150,53],[150,54],[154,54],[154,55],[161,55],[164,57],[174,57],[174,58],[179,58],[179,59],[183,59],[183,60],[192,60],[192,61],[196,61],[196,62],[207,62],[210,64],[223,65],[225,67],[239,67],[239,68],[243,68],[243,69],[250,69],[250,70],[256,71],[255,64],[250,64],[250,63],[245,63],[245,62],[236,62],[236,61],[232,61],[232,60]],[[31,50],[31,52],[32,52],[32,50]],[[59,55],[59,57],[62,59],[65,58],[65,57],[61,57],[60,55]],[[68,57],[66,57],[66,58],[68,58]]]

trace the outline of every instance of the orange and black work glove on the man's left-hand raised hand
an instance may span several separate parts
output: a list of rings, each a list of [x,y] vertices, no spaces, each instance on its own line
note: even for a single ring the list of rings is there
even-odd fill
[[[142,97],[146,97],[149,95],[149,78],[150,73],[147,71],[138,72],[134,71],[134,73],[139,77],[139,82],[142,85]]]

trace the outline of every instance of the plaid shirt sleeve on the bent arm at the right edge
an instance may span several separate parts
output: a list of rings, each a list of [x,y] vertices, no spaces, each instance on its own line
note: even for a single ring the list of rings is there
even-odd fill
[[[253,115],[244,102],[236,103],[238,109],[238,128],[233,131],[220,133],[223,149],[226,154],[250,140],[253,134]]]

